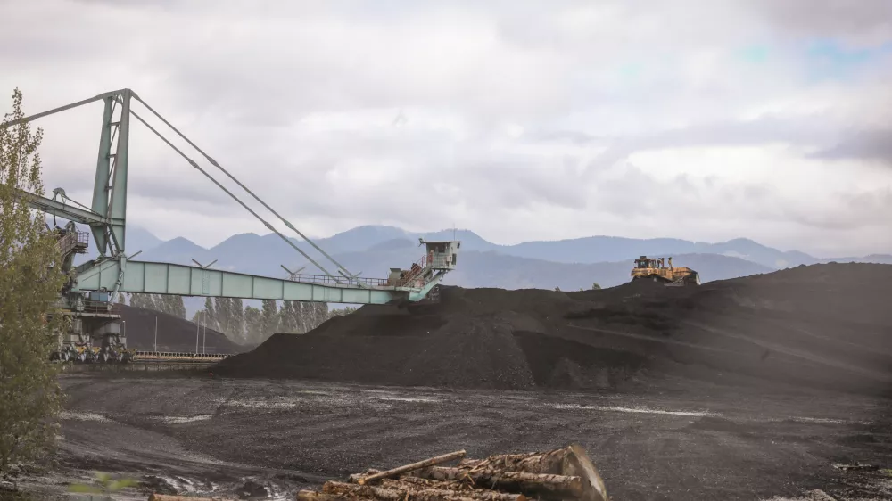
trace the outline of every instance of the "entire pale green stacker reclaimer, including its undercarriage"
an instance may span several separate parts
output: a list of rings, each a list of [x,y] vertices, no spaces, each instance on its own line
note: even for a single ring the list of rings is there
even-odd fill
[[[58,349],[54,357],[62,360],[128,362],[135,351],[127,348],[126,333],[121,330],[120,311],[115,308],[116,299],[122,292],[174,294],[180,296],[204,296],[242,298],[247,300],[298,300],[351,304],[406,304],[424,300],[444,275],[455,269],[461,242],[425,242],[426,252],[408,270],[392,269],[387,278],[364,278],[351,274],[329,256],[325,250],[297,230],[288,220],[260,199],[236,179],[227,169],[203,152],[169,121],[154,111],[130,89],[121,89],[92,98],[70,103],[54,110],[44,111],[19,120],[0,124],[10,127],[87,103],[104,103],[102,127],[99,137],[99,154],[96,160],[93,200],[89,206],[72,201],[62,188],[53,191],[52,198],[34,193],[20,192],[21,201],[30,207],[69,222],[56,226],[58,245],[62,252],[63,269],[70,278],[60,292],[58,310],[70,316],[68,332],[56,333]],[[218,168],[236,185],[276,216],[290,230],[300,235],[336,268],[332,273],[312,259],[284,234],[261,218],[243,200],[211,177],[207,170],[189,158],[185,152],[170,143],[157,129],[149,125],[131,106],[141,103],[145,110],[161,120],[164,125],[192,146],[213,167]],[[259,275],[246,275],[230,271],[193,267],[173,263],[138,261],[135,252],[128,256],[126,247],[127,226],[127,177],[130,160],[129,137],[131,118],[145,127],[178,152],[193,168],[211,179],[215,185],[234,201],[248,210],[270,231],[297,250],[321,275],[289,274],[288,279]],[[78,231],[75,225],[87,225],[87,232]],[[92,234],[98,256],[75,267],[74,257],[87,252]]]

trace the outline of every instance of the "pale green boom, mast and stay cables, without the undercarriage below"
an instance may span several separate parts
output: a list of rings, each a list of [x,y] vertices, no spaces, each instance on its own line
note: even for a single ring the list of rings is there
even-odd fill
[[[184,152],[171,144],[155,128],[150,126],[135,111],[131,110],[132,99],[145,105],[157,118],[174,130],[178,136],[186,140],[211,165],[219,168],[245,192],[259,201],[266,209],[285,223],[285,226],[299,234],[306,242],[318,250],[337,267],[337,274],[329,273],[317,261],[310,258],[290,239],[281,234],[274,226],[260,217],[234,193],[227,190],[217,179]],[[280,216],[268,204],[252,193],[219,163],[203,152],[198,146],[184,136],[177,128],[154,111],[130,89],[99,94],[95,97],[71,103],[54,110],[37,113],[24,119],[0,124],[9,127],[20,122],[27,122],[70,110],[87,103],[103,101],[103,123],[99,141],[99,154],[96,160],[95,182],[91,207],[77,207],[66,203],[64,191],[55,190],[62,201],[38,196],[33,193],[21,193],[22,201],[31,207],[66,218],[90,227],[99,256],[75,268],[74,278],[70,284],[70,292],[141,292],[177,294],[185,296],[229,297],[243,299],[266,300],[301,300],[324,301],[355,304],[384,304],[394,301],[417,301],[425,298],[428,292],[442,281],[442,277],[456,266],[456,258],[460,242],[424,242],[425,257],[409,270],[391,269],[387,279],[364,279],[351,274],[340,263],[301,234],[289,221]],[[117,114],[116,114],[117,111]],[[205,267],[192,267],[169,263],[131,261],[125,253],[126,221],[127,221],[127,177],[129,160],[130,117],[138,119],[156,136],[178,152],[189,164],[199,170],[205,177],[226,192],[252,216],[267,226],[301,255],[318,267],[326,275],[293,275],[291,279],[279,279],[266,276],[244,275],[228,271],[211,270]],[[117,117],[117,119],[115,118]],[[78,204],[79,205],[79,204]]]

